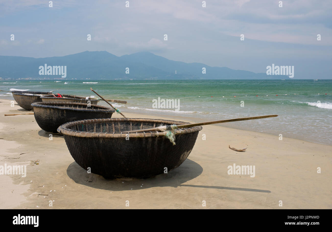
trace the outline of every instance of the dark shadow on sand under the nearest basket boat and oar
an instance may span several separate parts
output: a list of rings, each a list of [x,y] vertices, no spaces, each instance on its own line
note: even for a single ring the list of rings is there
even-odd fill
[[[139,179],[105,179],[101,175],[88,174],[76,162],[71,163],[67,168],[67,175],[78,184],[88,187],[105,189],[110,191],[137,190],[151,187],[198,187],[198,188],[216,188],[238,191],[253,192],[271,192],[269,190],[252,189],[252,188],[235,188],[223,186],[207,186],[182,184],[202,174],[203,168],[196,162],[187,159],[180,167],[170,171],[167,174],[160,174],[148,178]]]

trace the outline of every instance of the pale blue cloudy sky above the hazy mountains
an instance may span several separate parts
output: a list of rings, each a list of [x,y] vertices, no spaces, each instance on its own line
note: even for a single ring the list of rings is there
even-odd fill
[[[288,65],[296,79],[332,78],[331,0],[285,0],[282,7],[279,0],[128,2],[0,0],[0,55],[144,51],[253,72]]]

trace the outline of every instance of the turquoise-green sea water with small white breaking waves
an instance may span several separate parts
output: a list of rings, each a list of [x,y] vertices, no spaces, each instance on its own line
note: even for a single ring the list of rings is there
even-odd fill
[[[197,122],[278,114],[276,118],[220,125],[332,144],[332,80],[0,81],[2,90],[51,91],[61,88],[55,92],[95,96],[90,87],[105,98],[126,100],[126,105],[114,103],[124,114],[151,114]],[[13,99],[10,95],[0,92],[0,98]],[[175,111],[174,107],[153,108],[153,99],[158,97],[179,99],[179,110]]]

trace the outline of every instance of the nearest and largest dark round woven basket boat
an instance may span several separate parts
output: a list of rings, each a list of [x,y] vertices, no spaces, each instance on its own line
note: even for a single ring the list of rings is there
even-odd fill
[[[103,118],[61,125],[68,150],[83,169],[106,178],[142,178],[179,167],[192,151],[201,126],[174,130],[176,145],[166,132],[122,133],[186,122],[142,118]]]

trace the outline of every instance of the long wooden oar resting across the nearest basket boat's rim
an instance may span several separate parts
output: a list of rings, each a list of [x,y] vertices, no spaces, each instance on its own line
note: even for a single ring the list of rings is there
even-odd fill
[[[195,126],[204,126],[204,125],[224,123],[224,122],[236,122],[236,121],[260,119],[260,118],[272,118],[272,117],[277,117],[277,116],[278,115],[273,114],[273,115],[263,115],[263,116],[248,117],[248,118],[234,118],[234,119],[210,121],[210,122],[190,123],[190,124],[181,124],[181,125],[168,125],[168,126],[159,126],[159,127],[141,129],[141,130],[124,131],[122,133],[135,133],[135,132],[145,132],[145,131],[166,131],[166,130],[189,128],[189,127],[195,127]]]

